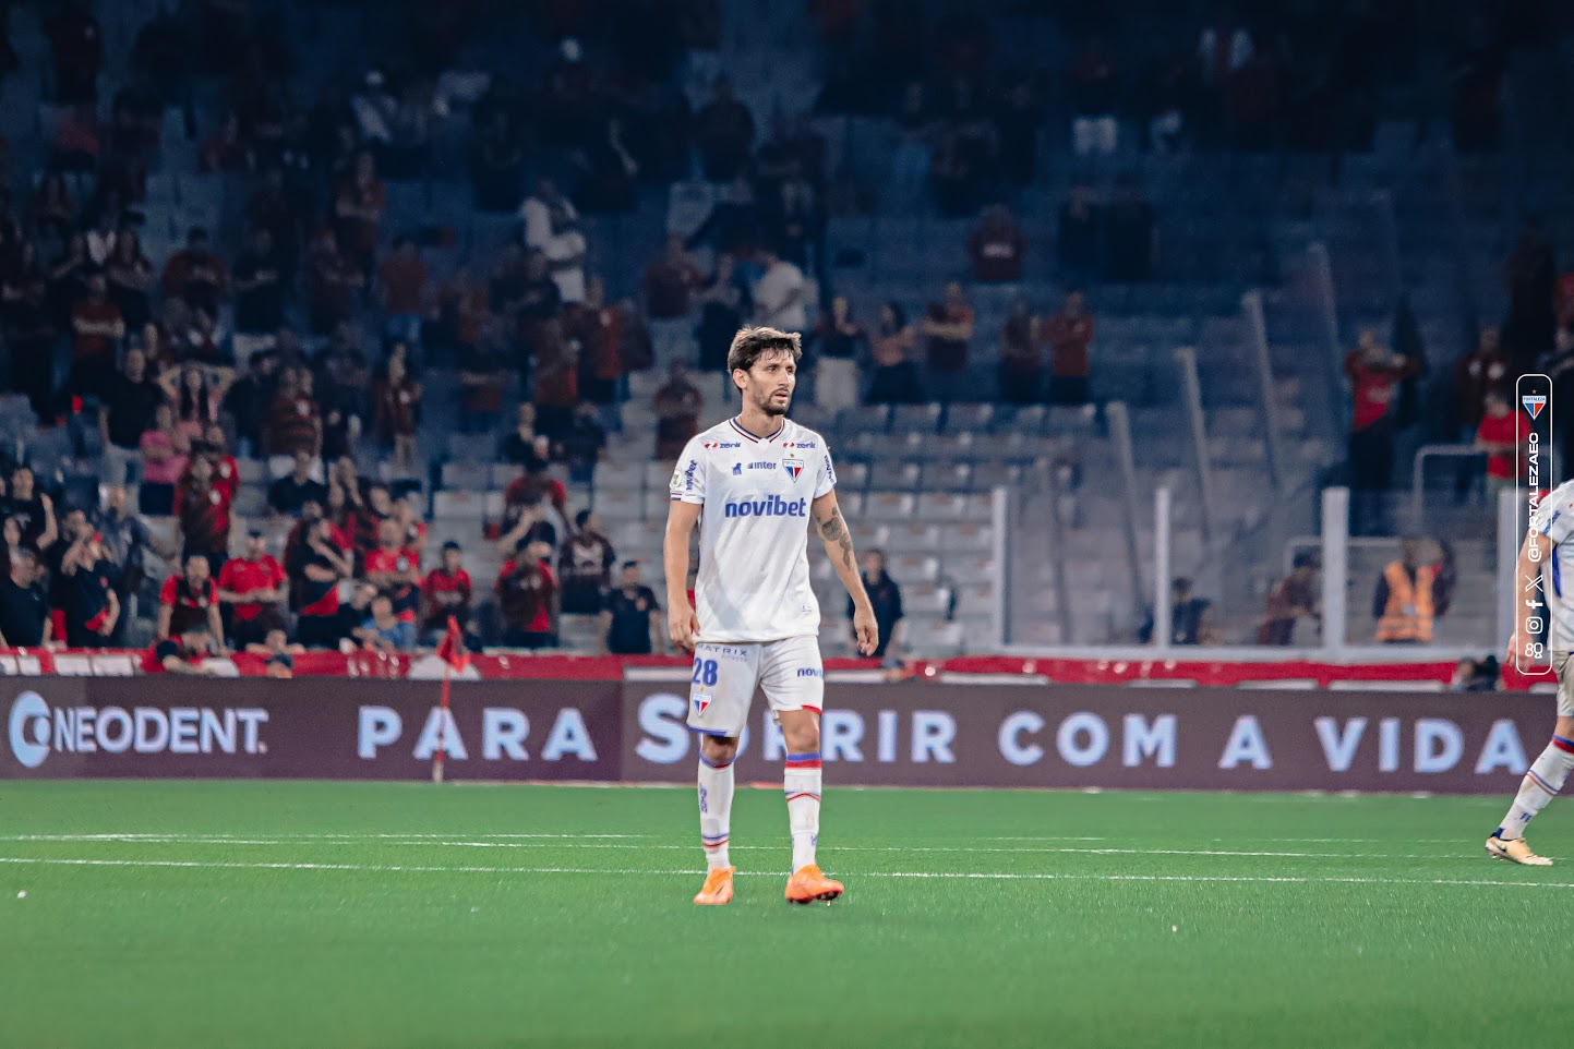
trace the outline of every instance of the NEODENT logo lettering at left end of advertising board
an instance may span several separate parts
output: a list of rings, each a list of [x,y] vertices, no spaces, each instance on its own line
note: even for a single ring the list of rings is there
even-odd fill
[[[50,753],[268,753],[255,706],[49,706],[38,692],[11,703],[11,753],[25,769]]]

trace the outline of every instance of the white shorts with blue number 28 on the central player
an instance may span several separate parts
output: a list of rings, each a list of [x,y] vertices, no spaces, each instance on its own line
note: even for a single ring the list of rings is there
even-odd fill
[[[818,639],[696,645],[689,728],[707,736],[738,736],[749,722],[756,687],[765,690],[776,720],[782,711],[818,714],[825,705]]]

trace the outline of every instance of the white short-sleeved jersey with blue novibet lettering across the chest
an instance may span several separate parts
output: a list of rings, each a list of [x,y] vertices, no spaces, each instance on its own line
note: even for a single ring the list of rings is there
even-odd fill
[[[809,503],[836,488],[825,437],[782,421],[770,437],[737,418],[688,442],[672,500],[704,506],[694,604],[702,642],[778,642],[820,632],[809,585]]]

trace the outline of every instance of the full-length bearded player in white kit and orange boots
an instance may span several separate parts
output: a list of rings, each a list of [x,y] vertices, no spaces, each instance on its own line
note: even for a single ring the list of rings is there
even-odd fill
[[[853,596],[858,650],[877,645],[874,607],[858,576],[853,539],[836,506],[825,437],[787,418],[800,337],[746,327],[727,368],[743,410],[688,442],[672,473],[664,560],[672,643],[694,653],[689,728],[699,733],[699,834],[705,885],[697,904],[732,900],[727,859],[732,763],[756,686],[787,744],[782,786],[792,832],[790,903],[836,900],[842,884],[820,873],[820,602],[809,585],[809,527]],[[689,607],[689,536],[699,525],[699,579]]]

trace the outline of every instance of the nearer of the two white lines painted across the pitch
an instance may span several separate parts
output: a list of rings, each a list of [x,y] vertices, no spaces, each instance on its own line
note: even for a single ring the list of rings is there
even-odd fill
[[[0,856],[0,863],[42,865],[42,867],[173,867],[194,870],[294,870],[294,871],[354,871],[371,874],[647,874],[658,878],[699,876],[704,871],[693,870],[647,870],[628,868],[589,868],[589,867],[408,867],[408,865],[376,865],[376,863],[208,863],[201,860],[98,860],[98,859],[42,859],[24,856]],[[738,871],[740,876],[781,878],[776,871]],[[1264,884],[1264,885],[1459,885],[1459,887],[1503,887],[1503,889],[1574,889],[1574,882],[1536,882],[1536,881],[1489,881],[1489,879],[1454,879],[1454,878],[1313,878],[1284,876],[1259,878],[1248,874],[1031,874],[1031,873],[979,873],[979,871],[864,871],[855,878],[918,878],[918,879],[960,879],[960,881],[1102,881],[1102,882],[1232,882],[1232,884]]]

